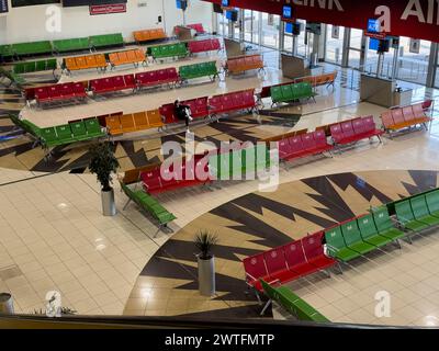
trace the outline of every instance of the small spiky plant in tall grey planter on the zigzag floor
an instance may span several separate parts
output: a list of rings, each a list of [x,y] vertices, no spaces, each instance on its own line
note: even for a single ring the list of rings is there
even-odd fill
[[[218,242],[216,235],[201,230],[194,239],[199,250],[196,254],[199,265],[199,291],[203,296],[215,294],[215,257],[212,253],[213,247]]]

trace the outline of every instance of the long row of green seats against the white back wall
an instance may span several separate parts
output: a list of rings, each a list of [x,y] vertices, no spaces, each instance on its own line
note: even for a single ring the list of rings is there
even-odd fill
[[[124,45],[122,33],[92,35],[89,37],[42,41],[32,43],[18,43],[0,45],[0,56],[11,58],[15,56],[66,53],[72,50],[86,50],[106,46]]]

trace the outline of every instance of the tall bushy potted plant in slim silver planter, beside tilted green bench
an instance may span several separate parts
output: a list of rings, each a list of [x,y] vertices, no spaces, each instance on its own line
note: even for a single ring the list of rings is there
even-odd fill
[[[116,214],[116,206],[114,204],[114,190],[111,186],[111,173],[117,170],[119,161],[108,143],[100,143],[92,146],[90,154],[90,172],[97,176],[98,181],[102,185],[102,213],[104,216],[114,216]]]

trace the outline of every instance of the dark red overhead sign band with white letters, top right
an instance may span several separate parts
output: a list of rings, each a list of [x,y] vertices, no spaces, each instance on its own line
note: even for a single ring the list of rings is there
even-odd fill
[[[221,0],[204,0],[221,4]],[[368,20],[380,19],[384,31],[394,36],[439,42],[439,1],[431,0],[230,0],[229,5],[282,15],[284,4],[293,15],[367,30]]]

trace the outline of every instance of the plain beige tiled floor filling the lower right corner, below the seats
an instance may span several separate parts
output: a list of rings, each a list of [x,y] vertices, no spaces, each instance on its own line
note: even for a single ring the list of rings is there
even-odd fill
[[[438,231],[414,237],[413,245],[394,247],[352,263],[342,275],[309,279],[289,286],[331,321],[439,326]],[[375,314],[382,293],[390,296],[390,316]]]

